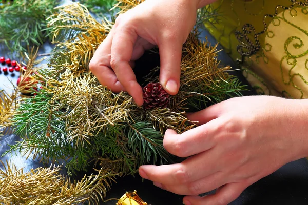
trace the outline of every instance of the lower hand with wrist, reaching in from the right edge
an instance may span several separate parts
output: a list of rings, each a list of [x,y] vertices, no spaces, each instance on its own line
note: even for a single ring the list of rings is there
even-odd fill
[[[252,183],[286,163],[308,156],[307,100],[271,96],[232,98],[189,115],[200,126],[178,135],[168,130],[164,147],[175,165],[145,165],[139,174],[167,191],[189,195],[184,204],[228,204]],[[217,189],[214,195],[199,194]]]

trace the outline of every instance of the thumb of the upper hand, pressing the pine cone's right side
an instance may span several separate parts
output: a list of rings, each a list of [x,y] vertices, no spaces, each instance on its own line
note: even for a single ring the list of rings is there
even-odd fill
[[[161,58],[160,83],[170,95],[176,95],[180,87],[182,43],[171,35],[159,42]]]

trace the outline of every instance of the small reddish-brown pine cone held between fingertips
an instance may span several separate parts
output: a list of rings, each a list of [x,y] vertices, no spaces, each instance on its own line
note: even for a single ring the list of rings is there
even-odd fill
[[[170,95],[163,89],[160,83],[149,83],[143,88],[144,108],[153,110],[154,108],[166,108]]]

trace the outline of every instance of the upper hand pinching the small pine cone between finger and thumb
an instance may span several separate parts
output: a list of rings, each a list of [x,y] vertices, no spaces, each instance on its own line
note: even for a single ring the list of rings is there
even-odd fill
[[[205,3],[206,2],[206,3]],[[210,0],[146,0],[115,21],[107,38],[90,61],[100,83],[113,92],[127,91],[143,104],[142,88],[132,67],[145,50],[159,47],[160,83],[171,95],[178,92],[182,45],[197,18],[197,9]]]

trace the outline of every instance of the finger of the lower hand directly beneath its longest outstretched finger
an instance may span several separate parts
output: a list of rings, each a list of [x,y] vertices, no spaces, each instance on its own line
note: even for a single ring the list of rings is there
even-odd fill
[[[202,193],[210,192],[221,187],[226,183],[226,178],[223,172],[217,172],[200,180],[181,184],[181,185],[164,185],[161,183],[153,182],[153,184],[161,189],[179,195],[199,195]]]

